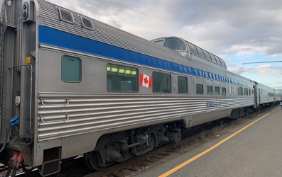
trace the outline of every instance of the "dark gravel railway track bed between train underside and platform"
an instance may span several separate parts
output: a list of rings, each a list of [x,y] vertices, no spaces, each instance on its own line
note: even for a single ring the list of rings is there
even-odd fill
[[[272,107],[271,107],[272,108]],[[97,176],[124,176],[123,173],[134,173],[138,172],[140,169],[146,169],[146,164],[154,163],[156,161],[161,161],[162,159],[166,159],[167,156],[171,156],[171,154],[175,152],[181,151],[183,148],[191,147],[193,144],[199,144],[201,142],[205,142],[205,139],[209,136],[215,136],[215,129],[224,129],[229,127],[234,123],[234,121],[244,122],[246,119],[251,119],[256,117],[259,113],[264,113],[265,111],[271,109],[266,108],[257,113],[244,116],[239,119],[221,119],[215,120],[206,125],[201,125],[197,127],[192,127],[190,130],[186,130],[182,132],[183,139],[178,144],[167,144],[166,146],[159,147],[154,149],[151,152],[143,154],[141,156],[136,156],[128,161],[124,161],[118,164],[114,164],[113,166],[109,166],[107,169],[102,169],[101,171],[92,172],[87,169],[85,158],[80,156],[80,158],[72,159],[72,160],[64,160],[62,164],[62,169],[60,173],[56,173],[51,177],[65,177],[65,176],[85,176],[85,177],[97,177]],[[2,169],[4,166],[1,166]],[[127,171],[127,172],[126,172]],[[2,175],[3,176],[3,175]],[[36,169],[31,171],[30,173],[17,173],[18,177],[39,177],[40,174]],[[131,176],[131,175],[129,175]],[[1,173],[0,173],[1,177]]]

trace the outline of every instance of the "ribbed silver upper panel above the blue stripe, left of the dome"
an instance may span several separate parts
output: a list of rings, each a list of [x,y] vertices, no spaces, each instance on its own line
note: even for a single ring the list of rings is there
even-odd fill
[[[95,21],[94,19],[92,19],[94,32],[92,30],[84,29],[82,28],[82,22],[79,14],[73,11],[72,15],[75,21],[74,25],[63,23],[60,21],[58,9],[54,4],[43,0],[38,0],[38,4],[40,6],[40,25],[45,25],[50,28],[62,30],[84,38],[97,40],[99,42],[104,42],[116,47],[122,47],[126,50],[139,52],[152,57],[158,57],[170,61],[176,60],[178,62],[182,59],[180,55],[176,54],[176,52],[173,52],[172,50],[166,49],[166,47],[158,46],[153,42],[139,38],[136,35],[131,35],[130,33],[99,21]]]

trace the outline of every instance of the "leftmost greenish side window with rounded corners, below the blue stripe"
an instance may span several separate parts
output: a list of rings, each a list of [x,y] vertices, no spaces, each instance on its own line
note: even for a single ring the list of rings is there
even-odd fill
[[[77,57],[62,57],[62,80],[65,82],[81,81],[81,61]]]

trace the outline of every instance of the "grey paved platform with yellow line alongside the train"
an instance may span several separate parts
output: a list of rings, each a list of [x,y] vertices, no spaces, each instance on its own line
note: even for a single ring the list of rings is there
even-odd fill
[[[248,127],[237,127],[240,131],[236,135],[230,132],[212,139],[138,176],[282,176],[280,106],[261,113],[252,122]]]

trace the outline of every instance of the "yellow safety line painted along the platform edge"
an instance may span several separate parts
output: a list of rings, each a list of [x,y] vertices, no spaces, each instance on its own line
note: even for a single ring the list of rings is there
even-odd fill
[[[275,110],[273,110],[272,112],[274,112]],[[271,112],[271,113],[272,113]],[[170,174],[174,173],[175,171],[178,171],[179,169],[183,168],[184,166],[190,164],[192,161],[195,161],[195,159],[198,159],[200,156],[203,156],[205,154],[207,154],[207,152],[212,151],[212,149],[215,149],[216,147],[218,147],[220,144],[223,144],[224,142],[226,142],[228,139],[234,137],[235,135],[237,135],[239,132],[242,132],[243,130],[245,130],[247,127],[253,125],[255,122],[258,122],[259,120],[261,120],[262,118],[266,117],[267,115],[269,115],[270,113],[262,116],[261,118],[259,118],[258,120],[255,120],[254,122],[251,122],[249,125],[246,125],[246,127],[242,128],[241,130],[238,130],[237,132],[234,132],[234,134],[230,135],[229,137],[223,139],[221,142],[215,144],[214,146],[210,147],[209,149],[205,150],[204,152],[201,152],[200,154],[197,154],[197,156],[192,157],[191,159],[189,159],[188,161],[183,162],[183,164],[180,164],[178,166],[175,166],[173,169],[171,169],[170,171],[167,171],[166,173],[163,173],[161,176],[158,177],[165,177],[165,176],[169,176]]]

